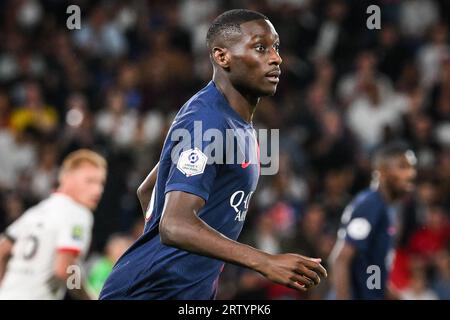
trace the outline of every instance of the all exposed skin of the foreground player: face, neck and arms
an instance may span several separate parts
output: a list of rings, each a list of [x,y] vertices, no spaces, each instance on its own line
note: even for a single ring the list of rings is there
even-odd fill
[[[215,41],[210,52],[216,86],[230,106],[250,122],[260,97],[275,93],[282,60],[278,34],[268,20],[243,23],[241,31],[227,41]],[[146,181],[140,187],[141,194],[147,195],[140,197],[145,204],[151,195],[145,190],[153,188],[156,173]],[[159,224],[162,243],[253,269],[299,291],[307,291],[327,276],[320,259],[290,253],[272,255],[225,237],[198,217],[204,205],[196,195],[168,192]]]

